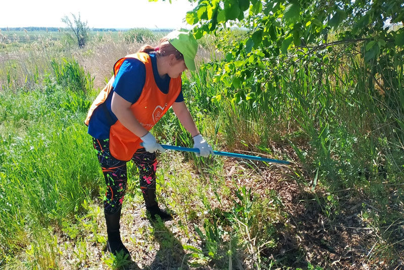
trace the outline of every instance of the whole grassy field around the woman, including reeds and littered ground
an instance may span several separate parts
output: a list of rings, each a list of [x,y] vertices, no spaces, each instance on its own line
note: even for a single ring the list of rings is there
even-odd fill
[[[371,83],[359,57],[333,51],[323,69],[274,63],[268,81],[278,76],[277,83],[237,100],[216,79],[225,52],[215,44],[238,34],[200,41],[200,68],[183,74],[185,101],[215,150],[293,164],[161,154],[158,199],[176,216],[150,224],[128,163],[121,224],[130,263],[105,249],[104,179],[83,120],[115,61],[143,42],[103,33],[84,49],[45,34],[7,44],[0,269],[403,267],[402,59],[388,93]],[[337,58],[343,66],[332,65]],[[161,143],[192,146],[171,111],[153,132]]]

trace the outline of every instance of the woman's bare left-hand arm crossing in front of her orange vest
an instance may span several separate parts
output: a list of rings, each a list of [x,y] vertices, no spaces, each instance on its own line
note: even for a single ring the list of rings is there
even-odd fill
[[[124,127],[132,131],[137,137],[145,136],[148,131],[137,121],[130,106],[132,104],[114,92],[111,101],[111,110],[118,117]]]

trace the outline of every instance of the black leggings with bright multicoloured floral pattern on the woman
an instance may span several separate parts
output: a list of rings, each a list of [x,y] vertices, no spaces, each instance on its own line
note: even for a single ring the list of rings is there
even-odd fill
[[[111,155],[109,139],[97,140],[92,138],[92,142],[97,151],[98,161],[103,170],[107,185],[107,191],[104,196],[104,212],[113,214],[122,207],[125,196],[128,181],[126,161],[118,160]],[[149,153],[144,148],[140,148],[133,155],[132,161],[139,169],[140,189],[143,193],[146,207],[157,205],[156,154]]]

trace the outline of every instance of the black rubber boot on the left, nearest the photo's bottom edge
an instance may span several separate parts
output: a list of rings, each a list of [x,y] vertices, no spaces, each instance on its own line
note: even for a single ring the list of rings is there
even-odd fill
[[[128,259],[131,258],[129,251],[123,245],[121,240],[121,234],[119,233],[120,224],[119,221],[121,219],[121,209],[113,214],[105,215],[105,222],[107,224],[107,250],[114,255],[117,255],[118,252],[123,251],[123,254],[128,254]]]

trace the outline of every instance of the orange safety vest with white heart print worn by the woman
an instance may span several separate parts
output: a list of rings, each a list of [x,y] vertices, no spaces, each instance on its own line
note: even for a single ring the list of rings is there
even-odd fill
[[[144,63],[146,67],[146,80],[139,99],[130,107],[139,123],[147,130],[150,130],[160,118],[173,105],[181,92],[181,77],[171,78],[167,94],[161,92],[156,84],[151,66],[150,56],[146,53],[136,53],[119,59],[114,65],[114,76],[110,79],[104,89],[98,94],[88,111],[84,123],[88,125],[95,108],[103,104],[111,91],[115,76],[122,63],[128,58],[135,58]],[[106,119],[107,121],[107,119]],[[119,119],[110,128],[110,152],[119,160],[129,161],[137,149],[141,148],[142,141],[139,137],[124,127]]]

